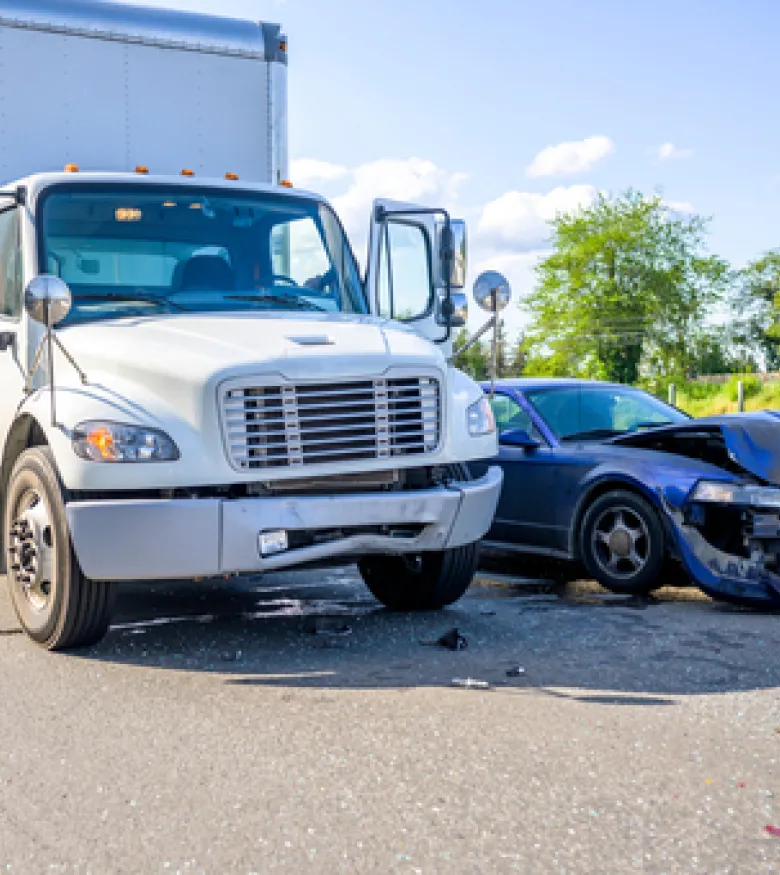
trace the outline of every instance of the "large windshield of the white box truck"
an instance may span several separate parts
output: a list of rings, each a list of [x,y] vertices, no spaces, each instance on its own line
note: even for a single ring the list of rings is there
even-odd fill
[[[295,195],[61,186],[40,202],[41,265],[73,293],[64,324],[153,313],[366,313],[333,212]]]

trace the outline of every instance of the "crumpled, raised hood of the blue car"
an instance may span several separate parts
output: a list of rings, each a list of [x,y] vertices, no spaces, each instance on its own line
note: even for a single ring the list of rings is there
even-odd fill
[[[692,419],[613,438],[611,444],[682,455],[780,486],[780,412]]]

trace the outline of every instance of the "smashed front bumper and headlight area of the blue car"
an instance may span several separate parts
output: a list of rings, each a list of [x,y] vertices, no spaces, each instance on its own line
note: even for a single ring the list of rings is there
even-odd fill
[[[679,557],[707,595],[780,607],[780,489],[702,480],[682,507],[665,505]]]

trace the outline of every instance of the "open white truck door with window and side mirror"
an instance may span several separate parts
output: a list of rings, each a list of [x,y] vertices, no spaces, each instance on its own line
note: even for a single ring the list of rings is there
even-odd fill
[[[456,226],[448,259],[444,229]],[[450,224],[444,210],[375,201],[366,272],[371,312],[404,322],[434,343],[448,343],[448,288],[451,294],[465,284],[461,227],[462,223]]]

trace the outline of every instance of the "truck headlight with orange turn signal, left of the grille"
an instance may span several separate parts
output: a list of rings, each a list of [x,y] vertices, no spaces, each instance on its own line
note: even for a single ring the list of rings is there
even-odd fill
[[[88,462],[175,462],[179,448],[163,431],[117,422],[82,422],[73,450]]]

